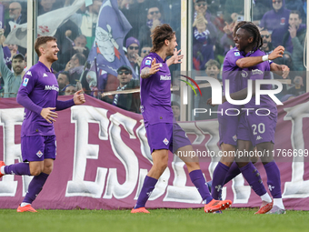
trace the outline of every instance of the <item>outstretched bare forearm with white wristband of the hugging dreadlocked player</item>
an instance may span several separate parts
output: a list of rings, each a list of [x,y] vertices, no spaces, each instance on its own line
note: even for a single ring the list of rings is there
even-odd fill
[[[277,46],[270,55],[261,56],[249,56],[238,59],[236,61],[236,66],[240,68],[256,66],[266,60],[274,60],[275,58],[282,57],[284,55],[284,47],[282,45]]]

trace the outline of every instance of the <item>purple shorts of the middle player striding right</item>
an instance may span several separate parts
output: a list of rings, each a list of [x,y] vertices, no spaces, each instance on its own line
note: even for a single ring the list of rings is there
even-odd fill
[[[191,145],[184,130],[177,123],[160,123],[146,126],[146,134],[151,153],[166,149],[175,152],[180,147]]]

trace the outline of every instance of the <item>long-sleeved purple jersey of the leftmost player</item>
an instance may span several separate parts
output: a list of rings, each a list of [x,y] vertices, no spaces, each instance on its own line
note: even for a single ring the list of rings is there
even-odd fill
[[[25,107],[25,116],[21,136],[54,136],[54,124],[48,123],[40,114],[43,108],[65,109],[74,105],[74,101],[57,101],[59,86],[53,69],[43,63],[32,66],[23,78],[17,94],[17,102]]]

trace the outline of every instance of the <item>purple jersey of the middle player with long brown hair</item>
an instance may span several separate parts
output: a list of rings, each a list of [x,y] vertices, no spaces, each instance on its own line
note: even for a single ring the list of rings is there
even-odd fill
[[[173,123],[171,73],[166,60],[156,53],[150,53],[143,59],[141,72],[143,68],[151,67],[154,58],[156,63],[160,64],[159,71],[148,78],[141,78],[141,111],[145,126]]]

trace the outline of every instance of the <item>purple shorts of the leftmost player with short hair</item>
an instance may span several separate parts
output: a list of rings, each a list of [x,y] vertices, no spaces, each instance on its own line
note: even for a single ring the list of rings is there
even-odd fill
[[[21,145],[24,162],[55,159],[55,136],[23,136]]]

